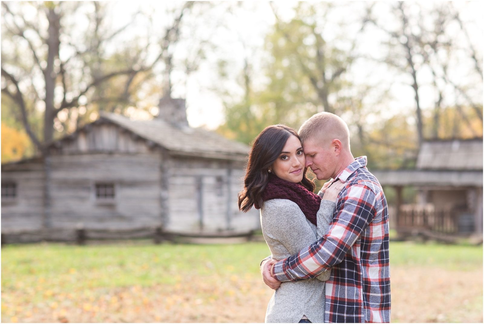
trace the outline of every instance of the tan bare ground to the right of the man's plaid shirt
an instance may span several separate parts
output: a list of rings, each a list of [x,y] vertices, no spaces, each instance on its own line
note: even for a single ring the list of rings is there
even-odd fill
[[[391,271],[392,322],[483,322],[482,269]]]

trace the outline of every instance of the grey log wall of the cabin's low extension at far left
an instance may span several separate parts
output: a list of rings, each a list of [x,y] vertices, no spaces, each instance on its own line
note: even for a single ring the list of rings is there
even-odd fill
[[[14,182],[15,199],[1,200],[2,231],[37,230],[44,210],[44,166],[41,161],[2,166],[2,182]]]

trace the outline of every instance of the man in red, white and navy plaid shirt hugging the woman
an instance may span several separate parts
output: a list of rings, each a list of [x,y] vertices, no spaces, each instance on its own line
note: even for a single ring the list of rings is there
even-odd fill
[[[314,278],[331,269],[326,281],[326,323],[390,322],[388,208],[381,185],[366,169],[366,157],[353,158],[348,125],[321,112],[299,129],[306,167],[318,180],[345,184],[328,232],[297,255],[262,263],[264,282]]]

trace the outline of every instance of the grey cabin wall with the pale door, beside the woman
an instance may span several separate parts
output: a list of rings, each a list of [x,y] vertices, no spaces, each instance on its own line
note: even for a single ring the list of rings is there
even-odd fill
[[[169,172],[169,221],[178,232],[249,231],[255,213],[238,211],[242,164],[216,159],[172,157]]]

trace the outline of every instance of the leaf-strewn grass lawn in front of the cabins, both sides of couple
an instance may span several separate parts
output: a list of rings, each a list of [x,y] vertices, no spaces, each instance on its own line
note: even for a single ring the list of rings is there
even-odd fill
[[[269,255],[265,243],[35,244],[1,252],[2,322],[263,322],[272,294],[258,269]],[[392,242],[390,253],[392,321],[482,322],[482,246]],[[461,308],[470,317],[453,317],[445,305],[435,306],[435,318],[403,311],[414,293],[432,297],[442,286],[457,293],[453,278],[467,279],[457,288],[467,292]],[[435,287],[421,291],[422,282]]]

